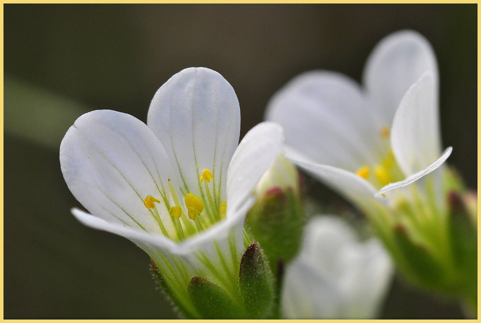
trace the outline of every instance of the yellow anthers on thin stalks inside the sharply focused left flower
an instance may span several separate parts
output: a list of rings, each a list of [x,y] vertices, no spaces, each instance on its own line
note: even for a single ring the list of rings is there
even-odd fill
[[[214,215],[215,222],[217,222],[226,216],[227,202],[222,201],[219,207],[218,208],[216,207],[214,200],[212,199],[209,186],[207,185],[207,183],[210,183],[211,179],[212,179],[212,173],[208,169],[204,169],[201,174],[201,183],[204,182],[205,194],[207,195],[207,200],[209,201],[209,206],[212,214]],[[174,220],[178,238],[180,240],[184,240],[185,235],[184,235],[184,230],[182,229],[182,224],[180,223],[180,217],[182,215],[184,215],[185,217],[185,214],[182,208],[180,207],[180,202],[177,198],[176,191],[170,181],[170,178],[168,179],[168,183],[169,183],[170,194],[172,195],[172,199],[174,199],[174,204],[175,204],[175,206],[170,208],[170,215]],[[159,224],[159,227],[162,230],[162,233],[164,234],[164,236],[171,238],[167,233],[167,230],[165,230],[165,226],[162,223],[162,219],[160,218],[159,211],[157,211],[157,208],[154,203],[160,203],[160,200],[152,197],[152,195],[147,195],[147,197],[144,199],[145,207],[147,209],[153,209],[155,220]],[[202,199],[197,195],[195,195],[194,193],[187,193],[186,196],[184,197],[184,203],[187,208],[187,214],[189,215],[190,220],[194,221],[195,223],[197,232],[203,231],[204,230],[203,224],[201,223],[201,221],[199,221],[199,216],[204,210],[204,203]]]

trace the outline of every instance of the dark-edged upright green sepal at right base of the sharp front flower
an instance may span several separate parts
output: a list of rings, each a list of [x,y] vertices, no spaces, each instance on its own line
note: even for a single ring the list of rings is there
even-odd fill
[[[241,298],[251,319],[266,319],[273,315],[274,278],[266,256],[256,243],[245,250],[239,271]]]

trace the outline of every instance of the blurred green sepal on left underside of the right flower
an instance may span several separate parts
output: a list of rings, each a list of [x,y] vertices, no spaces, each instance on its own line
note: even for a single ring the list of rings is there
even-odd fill
[[[437,290],[442,288],[443,268],[426,248],[411,241],[401,225],[394,229],[394,242],[404,258],[409,277],[415,283]]]

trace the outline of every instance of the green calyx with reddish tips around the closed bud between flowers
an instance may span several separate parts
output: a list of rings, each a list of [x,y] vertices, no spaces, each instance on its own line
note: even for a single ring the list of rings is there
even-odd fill
[[[262,246],[273,273],[279,260],[288,263],[298,253],[304,222],[301,196],[291,187],[267,190],[247,214],[245,226]]]

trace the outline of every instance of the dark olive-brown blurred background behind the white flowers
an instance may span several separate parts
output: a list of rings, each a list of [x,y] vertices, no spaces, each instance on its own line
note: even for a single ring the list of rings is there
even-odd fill
[[[477,4],[4,4],[4,318],[175,318],[149,257],[76,222],[60,172],[67,128],[94,109],[146,121],[153,94],[190,66],[222,74],[241,137],[274,92],[311,69],[360,81],[374,45],[410,28],[441,77],[448,163],[477,189]],[[311,195],[328,192],[312,184]],[[317,186],[316,186],[317,185]],[[326,194],[332,194],[328,192]],[[382,318],[462,318],[396,276]]]

